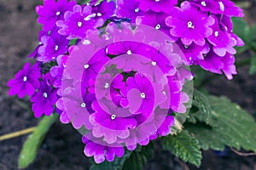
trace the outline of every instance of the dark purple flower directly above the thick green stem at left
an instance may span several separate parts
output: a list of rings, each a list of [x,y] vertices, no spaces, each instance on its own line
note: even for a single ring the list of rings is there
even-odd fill
[[[50,116],[55,107],[57,101],[57,90],[49,86],[46,78],[43,77],[41,82],[41,87],[38,92],[34,94],[31,98],[32,111],[35,117],[40,117],[46,115]]]

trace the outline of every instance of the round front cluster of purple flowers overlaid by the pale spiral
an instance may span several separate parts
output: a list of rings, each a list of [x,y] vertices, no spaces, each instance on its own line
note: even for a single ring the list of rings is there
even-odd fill
[[[135,150],[171,133],[172,112],[184,113],[189,101],[182,89],[192,75],[178,47],[165,42],[170,37],[156,42],[160,34],[147,39],[143,33],[154,32],[152,27],[120,26],[108,25],[104,38],[91,33],[73,46],[56,105],[61,122],[84,135],[84,154],[98,163],[123,156],[124,146]]]

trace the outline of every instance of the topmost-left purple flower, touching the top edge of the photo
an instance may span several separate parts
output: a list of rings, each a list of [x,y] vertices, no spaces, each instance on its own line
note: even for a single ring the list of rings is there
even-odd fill
[[[44,5],[36,7],[36,12],[39,15],[38,23],[43,25],[44,31],[52,30],[56,21],[63,20],[65,12],[72,10],[75,4],[74,0],[44,0]]]

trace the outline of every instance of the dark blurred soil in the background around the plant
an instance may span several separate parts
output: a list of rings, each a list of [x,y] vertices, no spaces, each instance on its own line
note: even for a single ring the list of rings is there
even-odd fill
[[[33,0],[0,0],[0,135],[38,123],[26,109],[28,100],[9,97],[6,87],[9,78],[14,77],[15,72],[26,63],[26,56],[37,46],[40,26],[34,12],[36,5],[37,2]],[[247,9],[246,18],[250,23],[256,21],[253,20],[255,13],[255,8]],[[247,67],[242,67],[238,72],[232,81],[219,76],[207,85],[207,90],[211,94],[228,96],[253,114],[256,109],[256,76],[248,76]],[[0,170],[17,169],[17,159],[26,137],[0,142]],[[159,148],[156,147],[154,159],[148,161],[145,169],[197,169]],[[28,169],[89,169],[90,161],[84,156],[83,150],[80,134],[70,125],[56,122]],[[256,170],[255,156],[237,156],[230,150],[226,156],[217,156],[212,150],[205,151],[203,155],[200,168],[203,170]]]

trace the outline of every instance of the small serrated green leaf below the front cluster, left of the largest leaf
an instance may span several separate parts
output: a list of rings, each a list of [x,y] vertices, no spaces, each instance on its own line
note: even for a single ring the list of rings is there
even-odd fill
[[[201,150],[198,141],[189,135],[188,131],[181,131],[177,136],[166,136],[162,138],[164,150],[170,151],[175,156],[185,162],[194,164],[196,167],[201,165]]]

